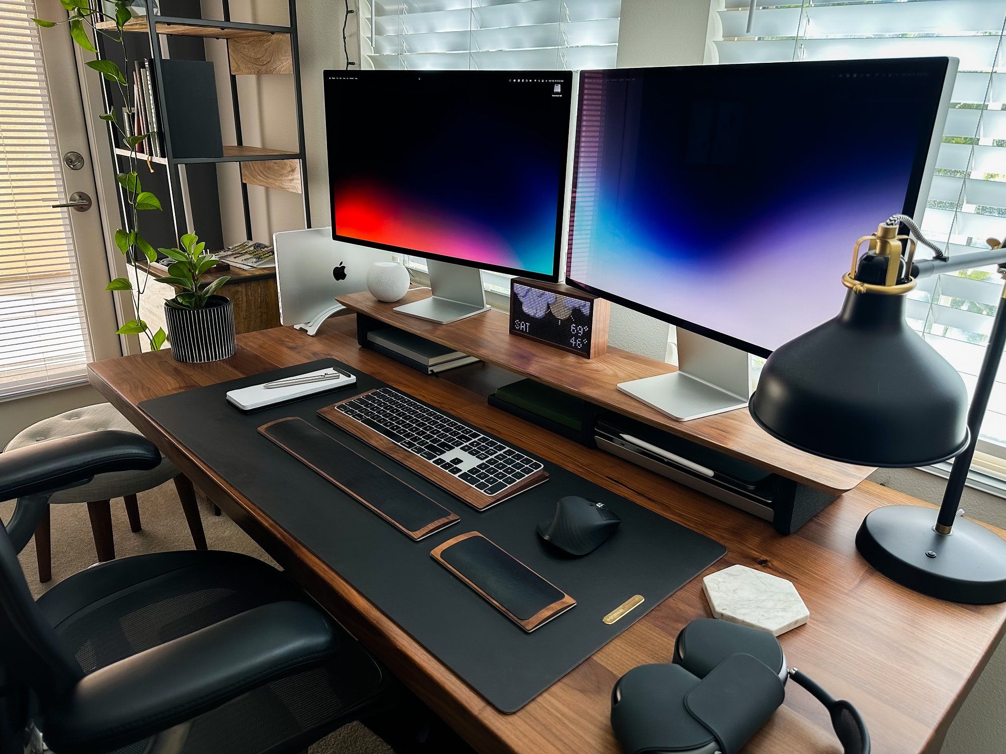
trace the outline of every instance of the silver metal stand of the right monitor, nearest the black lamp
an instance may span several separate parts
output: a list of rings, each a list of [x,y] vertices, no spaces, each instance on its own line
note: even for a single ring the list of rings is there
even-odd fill
[[[678,371],[619,390],[678,421],[743,408],[750,397],[747,352],[678,328]]]

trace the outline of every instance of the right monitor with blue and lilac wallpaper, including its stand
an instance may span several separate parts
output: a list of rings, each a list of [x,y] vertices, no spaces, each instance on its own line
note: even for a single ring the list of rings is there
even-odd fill
[[[683,360],[690,333],[767,356],[839,311],[856,238],[920,213],[956,71],[946,57],[583,71],[566,282],[680,326]],[[670,381],[696,393],[685,405],[666,405],[680,387],[666,378],[636,397],[716,413],[703,383],[742,364],[718,410],[743,405],[746,354],[711,353],[701,373],[681,364],[698,380]]]

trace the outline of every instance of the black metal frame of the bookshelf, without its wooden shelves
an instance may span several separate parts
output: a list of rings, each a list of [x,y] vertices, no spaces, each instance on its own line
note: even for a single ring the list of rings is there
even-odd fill
[[[101,2],[101,0],[94,0],[95,2]],[[161,0],[161,2],[166,2],[166,0]],[[161,135],[164,143],[164,153],[163,158],[150,158],[151,162],[159,165],[163,165],[167,169],[167,183],[168,183],[168,193],[169,193],[169,203],[171,205],[171,215],[172,223],[175,230],[175,237],[179,237],[183,232],[188,230],[194,230],[191,228],[186,228],[184,224],[184,217],[179,221],[179,212],[177,206],[177,199],[182,196],[182,180],[179,173],[179,167],[182,165],[194,165],[194,164],[207,164],[207,163],[225,163],[225,162],[253,162],[260,160],[298,160],[300,162],[301,170],[301,200],[304,209],[304,225],[305,227],[311,227],[311,203],[308,195],[308,172],[307,172],[307,155],[304,147],[304,108],[302,103],[302,92],[301,92],[301,62],[300,62],[300,50],[297,38],[297,3],[296,0],[288,0],[288,13],[290,19],[289,26],[273,26],[268,24],[255,24],[255,23],[241,23],[230,20],[230,3],[229,0],[222,0],[222,10],[223,19],[203,19],[203,18],[183,18],[178,16],[162,16],[154,12],[154,0],[145,0],[146,4],[146,23],[147,30],[150,40],[150,57],[154,64],[154,76],[157,81],[164,80],[162,70],[164,56],[161,52],[160,37],[163,35],[170,35],[170,32],[159,31],[159,25],[181,25],[181,26],[197,26],[208,29],[221,29],[221,30],[240,30],[240,31],[254,31],[262,32],[265,34],[288,34],[290,36],[290,51],[293,67],[293,77],[294,77],[294,97],[296,102],[296,118],[297,118],[297,152],[278,152],[278,153],[263,153],[254,155],[225,155],[223,157],[206,157],[206,158],[186,158],[177,159],[172,155],[171,149],[171,133],[168,124],[168,119],[165,117],[167,113],[167,103],[165,102],[164,88],[162,86],[157,87],[158,93],[158,107],[160,109],[159,114],[159,125],[161,128]],[[132,33],[132,32],[123,32]],[[211,34],[201,36],[192,35],[195,38],[215,38],[220,39],[221,37],[214,37]],[[97,45],[98,49],[102,49],[101,43]],[[101,58],[101,52],[98,54],[99,59]],[[129,75],[129,71],[123,71],[125,75]],[[230,102],[231,110],[233,113],[233,125],[234,125],[234,136],[236,141],[236,147],[245,146],[243,143],[243,138],[241,135],[241,116],[240,116],[240,102],[237,95],[237,74],[232,73],[228,69],[228,75],[230,77]],[[246,74],[241,74],[246,75]],[[252,74],[254,75],[254,74]],[[113,99],[111,95],[112,84],[103,79],[102,82],[102,102],[105,106],[105,112],[112,112],[113,109]],[[132,104],[130,104],[132,105]],[[129,150],[119,148],[118,139],[113,124],[109,124],[109,144],[112,149],[113,159],[116,163],[119,160],[129,156]],[[146,160],[146,155],[141,155],[140,159]],[[244,210],[244,229],[246,232],[246,237],[248,239],[253,238],[252,234],[252,213],[248,206],[248,190],[247,184],[243,180],[239,180],[241,187],[241,203]],[[123,227],[126,229],[132,229],[129,227],[131,217],[129,212],[129,205],[126,201],[125,189],[123,186],[118,186],[119,189],[119,204],[120,212],[123,217]]]

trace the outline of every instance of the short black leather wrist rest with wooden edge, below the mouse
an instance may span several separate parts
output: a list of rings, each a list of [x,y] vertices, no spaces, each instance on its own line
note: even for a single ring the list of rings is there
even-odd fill
[[[478,532],[448,540],[430,554],[525,631],[576,604]]]

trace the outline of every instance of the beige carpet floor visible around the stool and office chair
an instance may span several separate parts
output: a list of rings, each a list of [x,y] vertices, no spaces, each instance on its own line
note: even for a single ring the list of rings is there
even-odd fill
[[[123,501],[112,501],[112,526],[115,533],[116,556],[141,555],[165,550],[189,550],[189,535],[181,504],[172,483],[141,493],[140,521],[142,531],[131,532],[126,519]],[[9,520],[13,502],[0,504],[0,517]],[[206,541],[214,550],[230,550],[275,562],[244,532],[225,515],[214,516],[212,506],[202,496],[199,498],[202,525]],[[82,504],[52,506],[52,580],[38,582],[34,540],[20,555],[32,594],[38,596],[61,579],[93,565],[97,560],[92,538],[88,508]],[[322,739],[309,750],[310,754],[393,754],[390,747],[359,723],[350,723]]]

